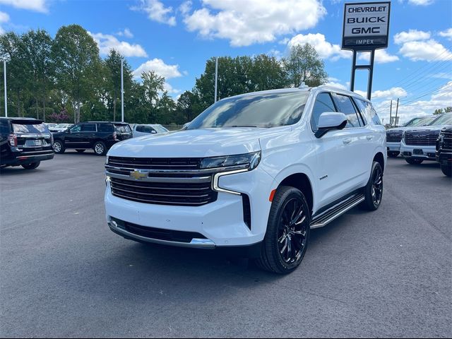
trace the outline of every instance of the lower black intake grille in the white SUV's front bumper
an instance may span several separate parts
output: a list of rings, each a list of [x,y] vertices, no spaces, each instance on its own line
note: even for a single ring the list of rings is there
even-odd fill
[[[117,223],[119,228],[122,228],[127,232],[150,239],[165,240],[167,242],[185,242],[187,244],[189,244],[192,239],[207,239],[202,234],[197,232],[164,230],[162,228],[144,227],[132,224],[131,222],[118,220],[116,218],[112,218],[112,220]]]

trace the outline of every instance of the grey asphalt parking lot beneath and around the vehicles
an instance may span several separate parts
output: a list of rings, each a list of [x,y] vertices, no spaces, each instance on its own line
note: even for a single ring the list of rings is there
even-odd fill
[[[272,275],[105,222],[105,157],[0,174],[1,337],[451,337],[452,182],[388,159],[383,202],[311,232]]]

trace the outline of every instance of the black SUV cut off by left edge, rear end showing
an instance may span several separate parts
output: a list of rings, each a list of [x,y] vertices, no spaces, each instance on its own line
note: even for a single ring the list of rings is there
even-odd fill
[[[52,133],[42,120],[0,117],[0,168],[35,169],[53,157]]]

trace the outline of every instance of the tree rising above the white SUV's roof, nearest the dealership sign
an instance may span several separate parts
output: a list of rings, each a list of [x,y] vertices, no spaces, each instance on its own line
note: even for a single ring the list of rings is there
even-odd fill
[[[311,44],[292,47],[289,57],[283,59],[283,64],[290,86],[299,87],[302,83],[319,86],[328,79],[323,61]]]

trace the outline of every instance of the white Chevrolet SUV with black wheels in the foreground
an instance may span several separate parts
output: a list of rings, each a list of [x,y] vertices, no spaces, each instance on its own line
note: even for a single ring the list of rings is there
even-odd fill
[[[290,273],[309,230],[383,194],[386,133],[369,100],[320,86],[216,102],[182,131],[114,145],[110,229],[127,239],[233,249]]]

